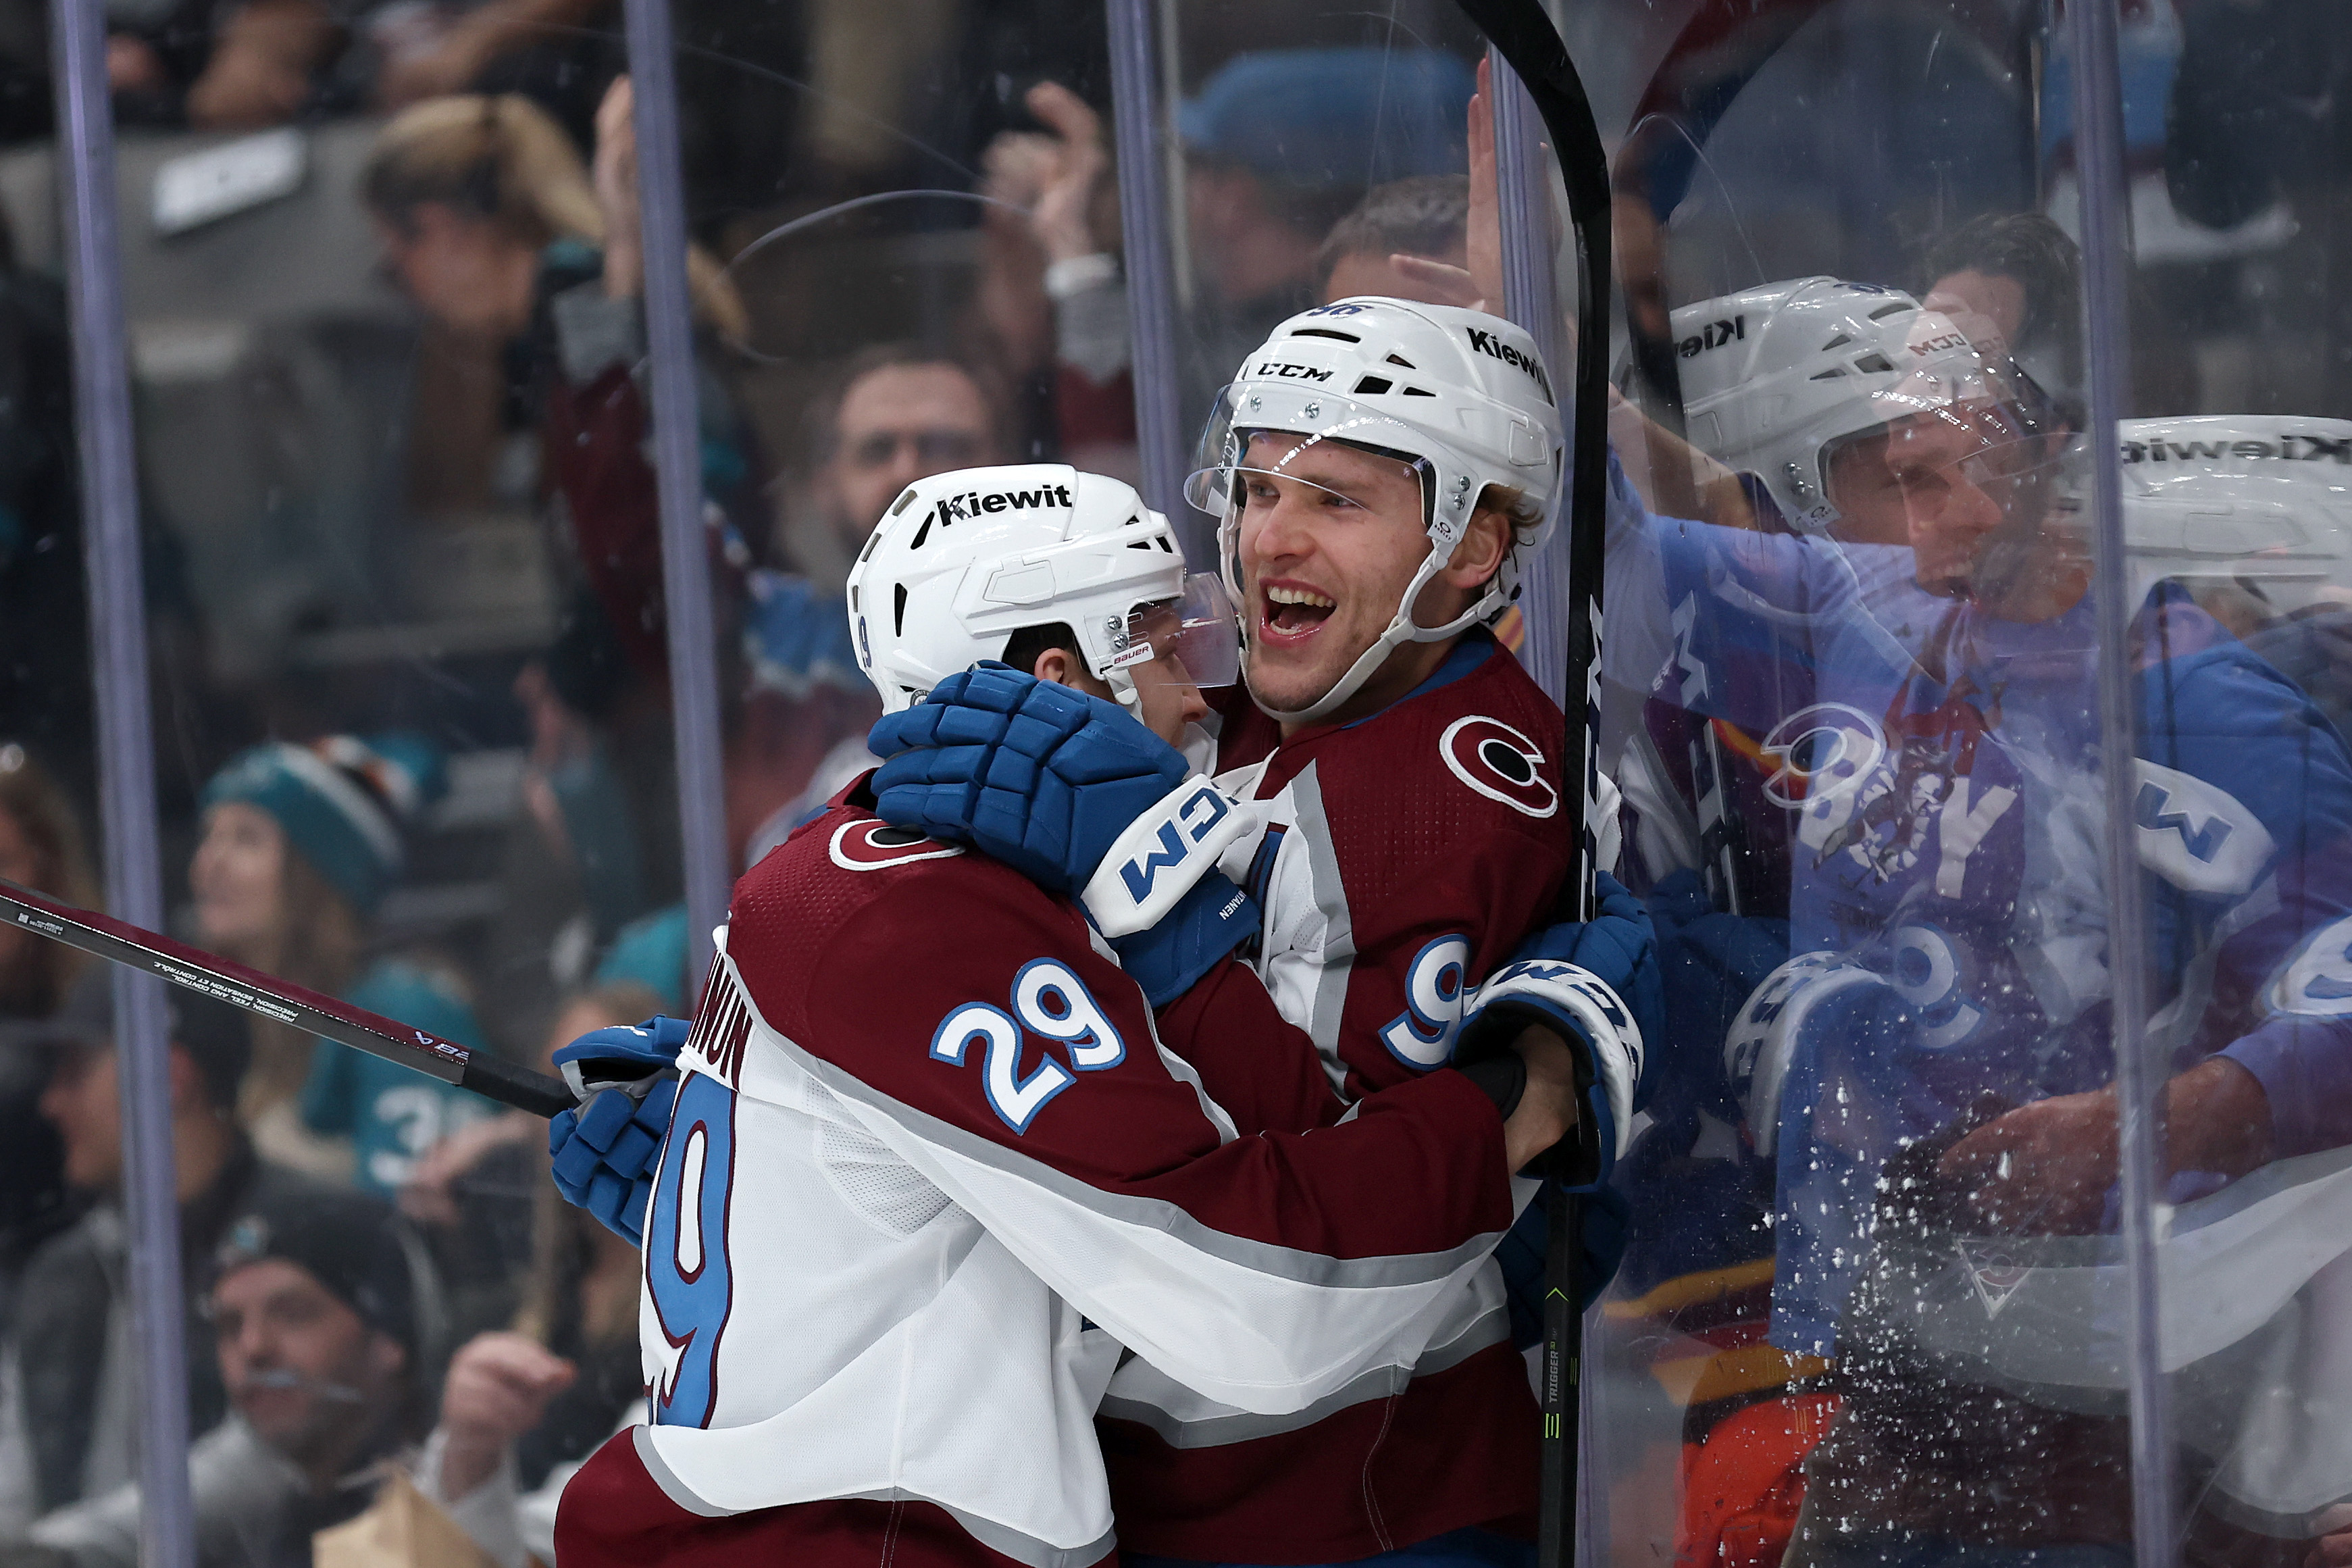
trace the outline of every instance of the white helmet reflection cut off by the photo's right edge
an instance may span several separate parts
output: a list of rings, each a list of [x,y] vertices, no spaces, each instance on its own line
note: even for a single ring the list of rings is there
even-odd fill
[[[2136,599],[2164,578],[2234,581],[2284,614],[2352,590],[2352,421],[2199,414],[2114,433]]]

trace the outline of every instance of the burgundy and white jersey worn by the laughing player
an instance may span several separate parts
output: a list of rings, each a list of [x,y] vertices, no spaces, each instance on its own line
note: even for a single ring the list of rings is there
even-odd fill
[[[1552,914],[1571,870],[1562,745],[1559,710],[1484,635],[1355,724],[1277,743],[1254,710],[1228,715],[1218,783],[1258,802],[1265,830],[1223,870],[1258,896],[1254,964],[1345,1100],[1428,1081],[1463,997]],[[1176,1051],[1218,1034],[1185,1001],[1162,1023]],[[1228,1070],[1202,1074],[1216,1091]],[[1134,1552],[1329,1563],[1463,1526],[1534,1533],[1538,1413],[1491,1260],[1411,1371],[1270,1415],[1141,1352],[1101,1429]]]

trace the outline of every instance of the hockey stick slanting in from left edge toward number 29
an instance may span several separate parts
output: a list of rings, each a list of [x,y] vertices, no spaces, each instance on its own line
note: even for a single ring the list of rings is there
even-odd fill
[[[332,1039],[353,1051],[381,1056],[388,1063],[423,1072],[442,1084],[470,1088],[485,1100],[527,1110],[534,1117],[553,1117],[572,1110],[576,1100],[562,1079],[553,1079],[529,1067],[501,1063],[482,1051],[470,1051],[454,1039],[412,1030],[369,1013],[367,1009],[322,997],[303,985],[273,980],[270,976],[233,964],[169,936],[127,926],[94,910],[45,898],[14,882],[0,882],[0,919],[52,943],[80,947],[125,969],[143,969],[162,976],[172,985],[183,985],[200,997],[240,1006],[247,1013],[273,1018],[306,1034]]]

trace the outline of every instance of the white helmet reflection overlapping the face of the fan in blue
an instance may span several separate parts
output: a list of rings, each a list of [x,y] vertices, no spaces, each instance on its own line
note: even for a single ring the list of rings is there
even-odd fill
[[[1755,475],[1804,534],[1837,522],[1837,449],[1893,418],[1999,407],[2020,435],[2049,425],[2006,343],[1983,327],[1962,331],[1900,289],[1799,277],[1682,306],[1672,327],[1684,435]]]

